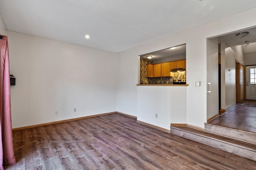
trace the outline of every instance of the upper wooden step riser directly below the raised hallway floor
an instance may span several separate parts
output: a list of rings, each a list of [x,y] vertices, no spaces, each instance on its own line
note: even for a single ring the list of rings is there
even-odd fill
[[[256,133],[204,123],[204,130],[256,144]]]

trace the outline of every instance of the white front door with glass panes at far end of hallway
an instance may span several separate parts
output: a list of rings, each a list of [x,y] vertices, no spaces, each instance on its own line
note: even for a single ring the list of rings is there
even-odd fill
[[[246,66],[246,99],[256,100],[256,65]]]

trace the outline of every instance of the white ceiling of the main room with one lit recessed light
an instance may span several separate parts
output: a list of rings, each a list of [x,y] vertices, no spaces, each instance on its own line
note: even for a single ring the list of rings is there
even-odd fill
[[[9,31],[112,52],[255,7],[256,0],[0,0]]]

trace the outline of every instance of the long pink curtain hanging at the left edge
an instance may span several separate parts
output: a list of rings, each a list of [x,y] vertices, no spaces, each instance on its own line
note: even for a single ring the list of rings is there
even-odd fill
[[[10,67],[7,37],[0,40],[0,170],[3,165],[15,164],[12,142],[10,102]]]

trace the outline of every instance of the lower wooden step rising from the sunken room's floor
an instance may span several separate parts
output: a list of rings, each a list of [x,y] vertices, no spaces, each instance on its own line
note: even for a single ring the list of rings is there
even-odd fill
[[[191,127],[171,126],[171,133],[245,158],[256,160],[256,144]]]

